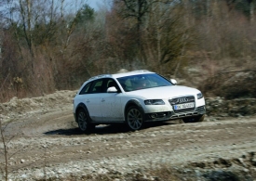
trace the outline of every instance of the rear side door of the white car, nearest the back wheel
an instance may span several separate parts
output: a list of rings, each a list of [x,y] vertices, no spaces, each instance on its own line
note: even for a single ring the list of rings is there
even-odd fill
[[[101,90],[103,79],[95,80],[91,83],[85,104],[88,108],[89,116],[92,121],[101,121]]]

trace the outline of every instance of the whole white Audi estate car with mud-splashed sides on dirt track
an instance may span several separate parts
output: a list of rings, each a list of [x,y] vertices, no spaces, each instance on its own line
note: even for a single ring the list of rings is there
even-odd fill
[[[86,81],[74,97],[74,120],[83,132],[99,124],[124,123],[131,131],[147,122],[202,122],[203,94],[153,71],[102,74]]]

